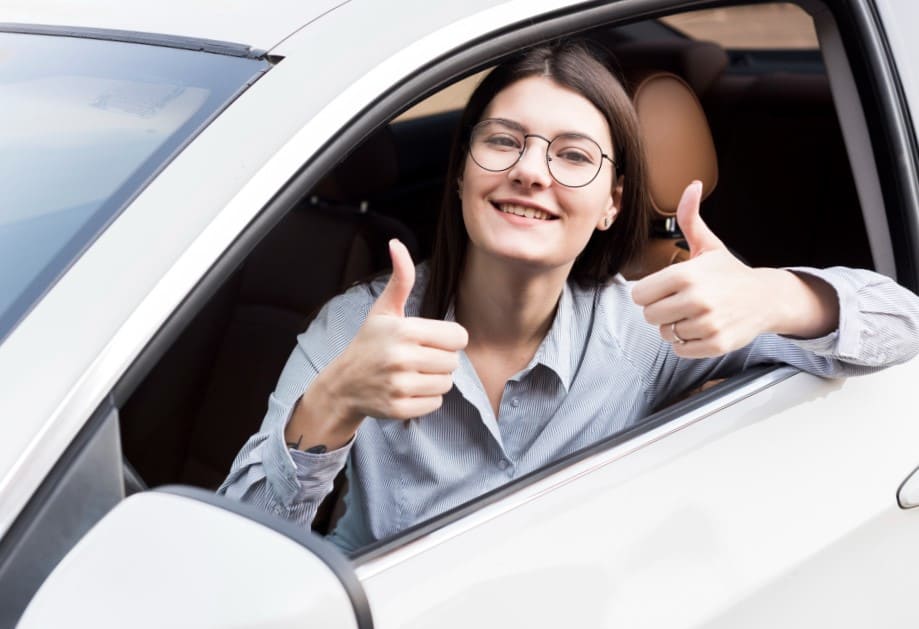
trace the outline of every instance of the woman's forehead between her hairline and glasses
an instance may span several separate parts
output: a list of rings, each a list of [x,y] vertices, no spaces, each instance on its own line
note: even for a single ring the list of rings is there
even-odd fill
[[[574,132],[601,145],[610,141],[606,118],[593,103],[544,76],[511,83],[495,95],[482,117],[513,120],[530,133],[548,137]]]

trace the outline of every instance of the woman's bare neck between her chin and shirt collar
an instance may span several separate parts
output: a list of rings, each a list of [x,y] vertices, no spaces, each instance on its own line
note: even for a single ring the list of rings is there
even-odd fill
[[[552,325],[569,269],[534,271],[467,253],[455,313],[470,345],[535,349]]]

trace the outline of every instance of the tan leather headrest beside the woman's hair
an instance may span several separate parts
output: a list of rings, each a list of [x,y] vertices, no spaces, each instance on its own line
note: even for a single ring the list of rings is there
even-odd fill
[[[648,163],[654,209],[676,214],[683,190],[702,181],[702,198],[718,182],[718,158],[708,120],[695,93],[680,77],[657,72],[638,82],[632,94]]]

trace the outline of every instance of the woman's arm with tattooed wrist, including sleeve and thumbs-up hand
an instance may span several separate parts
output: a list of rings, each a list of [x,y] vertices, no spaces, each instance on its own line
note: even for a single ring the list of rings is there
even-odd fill
[[[406,318],[414,266],[391,244],[393,275],[332,300],[298,339],[261,431],[218,490],[308,525],[368,416],[407,419],[442,403],[466,332],[456,323]]]

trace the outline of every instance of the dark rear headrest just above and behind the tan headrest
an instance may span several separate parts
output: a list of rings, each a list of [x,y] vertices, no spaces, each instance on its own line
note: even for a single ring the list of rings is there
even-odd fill
[[[728,67],[728,53],[718,44],[694,40],[629,42],[615,47],[624,74],[672,72],[682,77],[696,94],[705,94]]]

